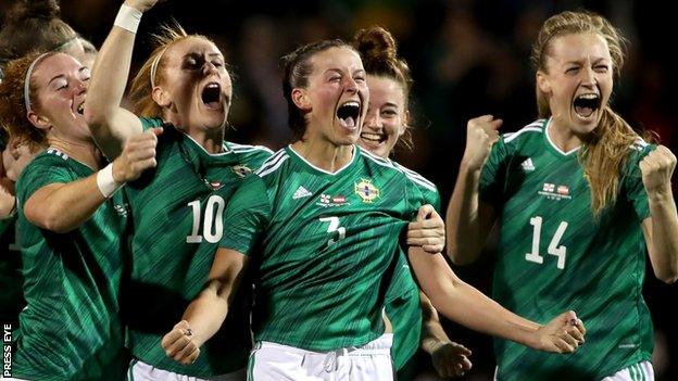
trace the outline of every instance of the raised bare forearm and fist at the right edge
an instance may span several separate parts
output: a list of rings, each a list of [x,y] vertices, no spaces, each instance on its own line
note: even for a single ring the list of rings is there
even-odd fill
[[[642,223],[643,233],[654,275],[666,283],[678,280],[678,214],[670,183],[675,167],[676,156],[664,145],[640,162],[651,215]]]

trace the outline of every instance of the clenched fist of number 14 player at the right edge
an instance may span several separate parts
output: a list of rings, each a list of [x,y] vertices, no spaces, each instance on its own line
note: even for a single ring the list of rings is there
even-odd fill
[[[657,147],[640,162],[639,166],[648,195],[670,191],[670,178],[676,168],[676,156],[669,149],[664,145]]]

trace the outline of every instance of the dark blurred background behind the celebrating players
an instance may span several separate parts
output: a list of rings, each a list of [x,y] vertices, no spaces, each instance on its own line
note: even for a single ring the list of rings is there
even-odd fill
[[[0,2],[4,13],[10,0]],[[120,1],[63,0],[62,15],[99,47]],[[504,119],[503,131],[536,118],[533,72],[528,56],[541,23],[556,12],[588,9],[608,17],[629,39],[622,79],[615,82],[614,109],[636,128],[656,131],[677,148],[676,71],[669,64],[676,46],[671,2],[384,0],[384,1],[208,1],[170,0],[148,12],[138,33],[135,65],[148,56],[148,33],[174,17],[188,33],[217,42],[235,74],[229,140],[279,149],[288,143],[287,109],[281,97],[279,58],[296,46],[323,38],[350,39],[355,30],[379,24],[393,33],[413,72],[415,149],[397,160],[440,189],[443,207],[452,192],[465,143],[466,120],[481,114]],[[460,277],[489,292],[489,255]],[[657,380],[678,379],[676,285],[648,271],[644,295],[656,330]],[[491,339],[444,321],[449,335],[474,351],[467,380],[491,379]],[[430,359],[422,356],[419,380],[435,380]]]

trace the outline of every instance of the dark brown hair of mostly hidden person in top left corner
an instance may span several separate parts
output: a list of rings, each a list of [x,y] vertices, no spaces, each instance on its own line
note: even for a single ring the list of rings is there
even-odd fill
[[[4,16],[0,30],[0,61],[8,62],[33,51],[62,51],[78,35],[59,18],[56,0],[18,0]]]

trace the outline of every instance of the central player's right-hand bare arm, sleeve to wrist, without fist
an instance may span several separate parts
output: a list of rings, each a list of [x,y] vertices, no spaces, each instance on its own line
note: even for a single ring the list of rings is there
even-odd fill
[[[422,290],[447,318],[479,332],[539,347],[538,323],[513,314],[463,282],[442,256],[410,247],[410,262]]]

